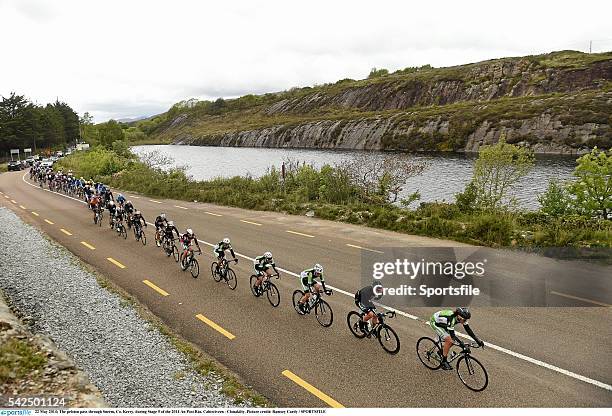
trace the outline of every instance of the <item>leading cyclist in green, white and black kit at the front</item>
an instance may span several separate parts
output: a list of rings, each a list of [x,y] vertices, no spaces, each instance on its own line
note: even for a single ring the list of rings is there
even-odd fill
[[[455,324],[460,323],[465,328],[465,332],[481,347],[484,345],[478,337],[472,331],[472,328],[468,325],[468,319],[472,314],[468,308],[459,307],[454,311],[450,309],[444,309],[434,313],[429,320],[429,326],[438,335],[440,342],[444,344],[442,350],[442,368],[444,370],[452,370],[450,363],[447,361],[448,351],[455,341],[461,348],[465,347],[463,341],[461,341],[455,334]]]

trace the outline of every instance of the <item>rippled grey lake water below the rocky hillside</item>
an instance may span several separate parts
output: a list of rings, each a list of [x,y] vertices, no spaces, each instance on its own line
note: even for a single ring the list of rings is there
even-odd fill
[[[371,157],[388,156],[389,153],[311,150],[311,149],[266,149],[250,147],[206,147],[180,145],[135,146],[136,154],[158,151],[170,156],[175,166],[185,166],[187,174],[194,179],[252,175],[258,177],[271,166],[280,168],[283,160],[291,158],[315,166],[335,164],[351,159],[357,153]],[[421,201],[452,201],[472,177],[475,155],[457,153],[391,153],[396,157],[426,162],[425,171],[411,178],[404,187],[403,195],[419,191]],[[537,195],[546,190],[551,179],[565,180],[571,177],[576,166],[576,157],[538,155],[533,170],[517,184],[513,194],[520,205],[537,209]]]

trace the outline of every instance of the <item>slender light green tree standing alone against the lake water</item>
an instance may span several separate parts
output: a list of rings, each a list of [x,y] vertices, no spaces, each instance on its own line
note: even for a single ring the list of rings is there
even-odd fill
[[[531,150],[508,144],[504,137],[495,145],[481,147],[472,177],[476,206],[495,210],[512,201],[512,187],[529,173],[534,163]]]

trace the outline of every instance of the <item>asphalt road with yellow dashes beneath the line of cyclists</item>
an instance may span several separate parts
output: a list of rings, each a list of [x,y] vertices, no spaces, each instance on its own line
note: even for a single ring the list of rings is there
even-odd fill
[[[346,314],[355,309],[352,294],[361,285],[363,250],[462,246],[459,243],[128,193],[147,221],[164,211],[180,230],[194,229],[204,254],[198,259],[200,277],[193,279],[155,247],[152,227],[147,246],[131,234],[123,240],[108,226],[95,226],[84,204],[43,191],[23,177],[24,172],[0,175],[0,206],[93,265],[277,405],[612,406],[612,310],[586,307],[606,303],[584,293],[555,296],[560,302],[579,298],[585,307],[473,307],[471,326],[487,342],[487,348],[475,351],[489,373],[489,387],[480,393],[465,388],[454,371],[430,371],[418,360],[415,344],[431,335],[424,320],[433,308],[405,309],[388,321],[401,339],[397,355],[386,354],[374,339],[351,335]],[[235,291],[215,283],[208,271],[213,257],[206,243],[225,236],[241,255],[238,265],[232,265],[238,275]],[[248,287],[252,262],[247,258],[266,250],[285,270],[275,281],[281,291],[278,308],[253,297]],[[294,274],[315,262],[326,267],[328,281],[336,288],[326,298],[334,311],[329,328],[321,327],[313,315],[298,316],[291,306],[291,293],[298,287]],[[527,266],[545,269],[550,262],[554,260],[524,256],[517,264],[509,257],[504,268],[510,277],[520,278]],[[567,262],[564,267],[580,274],[595,266]]]

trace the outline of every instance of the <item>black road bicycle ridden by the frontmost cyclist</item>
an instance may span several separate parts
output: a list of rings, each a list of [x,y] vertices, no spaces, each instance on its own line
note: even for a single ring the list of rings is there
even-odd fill
[[[457,345],[453,343],[453,345]],[[442,343],[440,339],[434,341],[429,337],[421,337],[417,341],[417,355],[423,365],[430,370],[437,370],[442,366]],[[472,356],[470,348],[480,348],[475,342],[463,345],[461,351],[452,351],[448,362],[457,360],[456,371],[459,380],[472,391],[483,391],[489,384],[489,375],[484,366]]]

